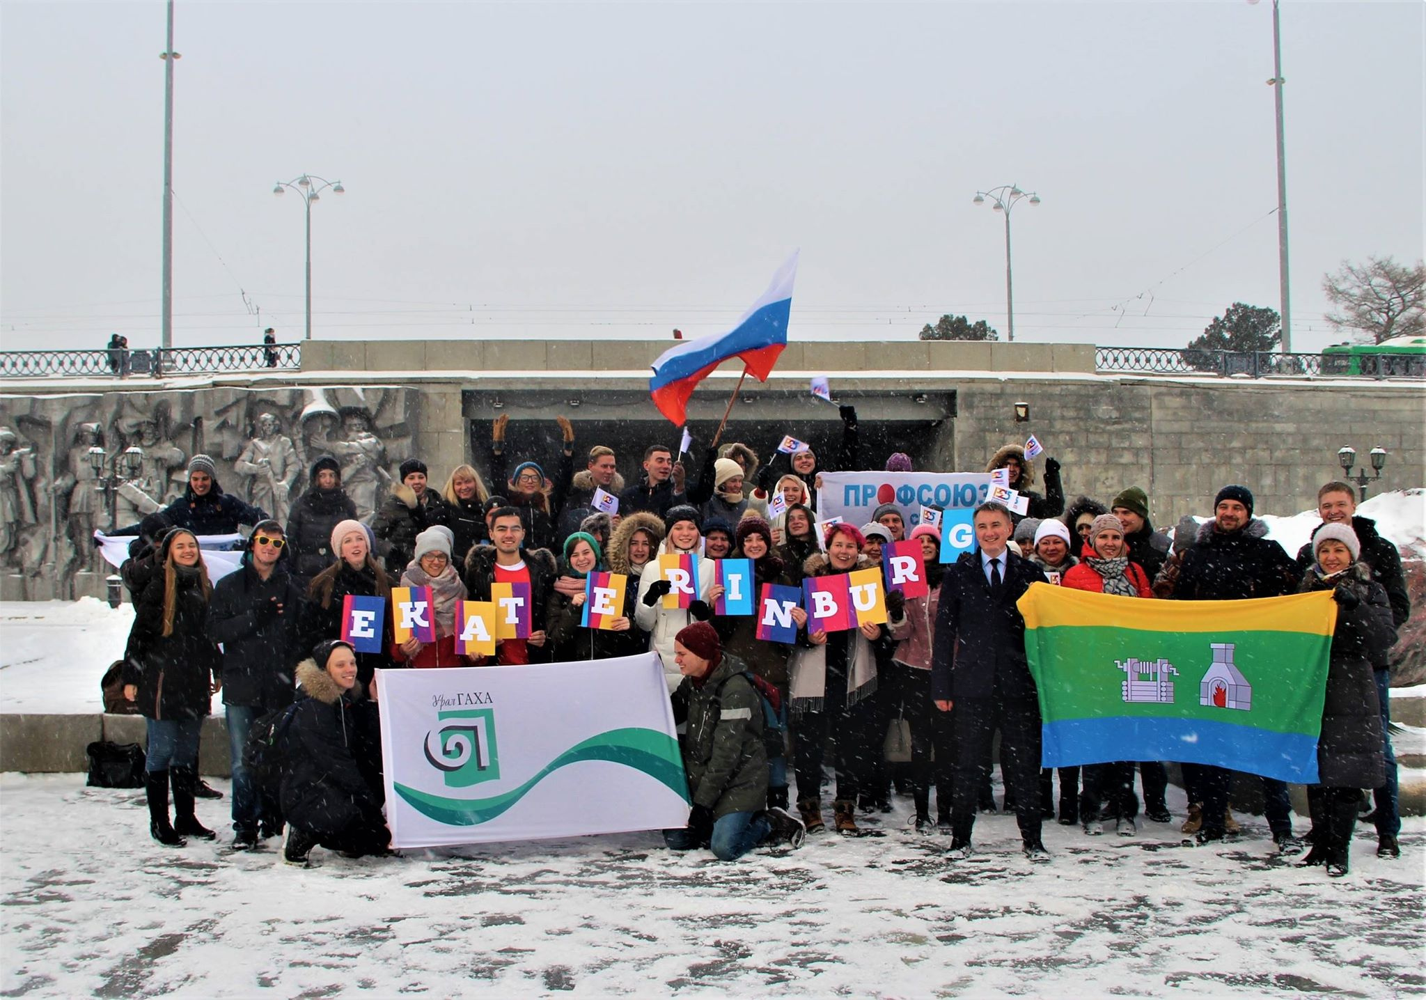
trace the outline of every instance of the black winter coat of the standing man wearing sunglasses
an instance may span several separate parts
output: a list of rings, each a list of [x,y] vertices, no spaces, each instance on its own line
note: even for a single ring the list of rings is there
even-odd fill
[[[222,703],[271,712],[291,705],[292,669],[307,653],[301,648],[302,591],[278,562],[265,581],[242,566],[212,588],[208,638],[222,643]],[[258,608],[277,601],[282,613],[258,625]]]

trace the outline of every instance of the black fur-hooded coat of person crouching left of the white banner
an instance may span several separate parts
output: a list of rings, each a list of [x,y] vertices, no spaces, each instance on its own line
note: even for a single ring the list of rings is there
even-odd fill
[[[352,826],[381,826],[381,723],[361,682],[342,692],[314,660],[297,668],[301,685],[282,755],[282,815],[321,837]]]

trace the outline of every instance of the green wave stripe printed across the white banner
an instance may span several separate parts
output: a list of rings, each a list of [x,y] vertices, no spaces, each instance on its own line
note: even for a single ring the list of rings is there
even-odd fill
[[[540,767],[525,783],[488,799],[449,799],[419,792],[399,782],[394,787],[405,802],[438,823],[478,826],[508,810],[553,772],[582,760],[607,760],[642,770],[682,796],[684,802],[689,800],[689,785],[683,773],[679,742],[655,729],[610,729],[590,736]]]

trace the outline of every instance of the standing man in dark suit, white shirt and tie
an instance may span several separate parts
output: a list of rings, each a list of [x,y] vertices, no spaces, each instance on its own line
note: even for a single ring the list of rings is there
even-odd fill
[[[1025,619],[1015,602],[1031,583],[1047,583],[1034,563],[1008,549],[1014,522],[1000,504],[974,514],[975,551],[941,579],[931,658],[931,698],[950,712],[955,732],[951,854],[968,857],[975,797],[990,780],[991,738],[1000,728],[1000,762],[1015,800],[1025,856],[1050,860],[1040,839],[1040,699],[1025,660]]]

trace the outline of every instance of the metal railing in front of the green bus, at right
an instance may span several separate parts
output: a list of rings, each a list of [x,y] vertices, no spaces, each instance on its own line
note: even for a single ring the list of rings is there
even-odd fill
[[[1151,375],[1426,378],[1426,358],[1420,355],[1279,354],[1186,347],[1101,347],[1094,352],[1094,367],[1097,371]]]

